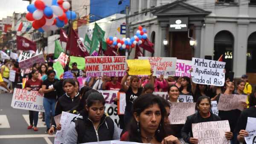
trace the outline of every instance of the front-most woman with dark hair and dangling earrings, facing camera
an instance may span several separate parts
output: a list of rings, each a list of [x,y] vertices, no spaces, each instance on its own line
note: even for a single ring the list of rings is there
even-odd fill
[[[151,144],[180,144],[178,138],[167,136],[164,129],[166,109],[159,96],[145,94],[138,97],[133,104],[133,117],[128,132],[121,141]]]

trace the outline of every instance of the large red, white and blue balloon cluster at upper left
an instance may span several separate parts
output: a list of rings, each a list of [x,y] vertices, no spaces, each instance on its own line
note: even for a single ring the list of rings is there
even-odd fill
[[[65,0],[35,0],[27,6],[26,19],[39,32],[54,31],[76,19],[76,13],[69,9],[70,3]]]

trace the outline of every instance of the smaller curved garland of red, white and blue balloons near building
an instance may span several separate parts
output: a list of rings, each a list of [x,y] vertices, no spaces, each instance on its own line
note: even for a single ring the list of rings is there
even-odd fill
[[[128,37],[119,39],[117,37],[111,36],[107,38],[106,42],[112,47],[116,47],[119,49],[130,49],[130,47],[134,48],[136,44],[140,45],[147,38],[147,30],[145,28],[143,29],[142,26],[139,26],[136,35],[131,38]]]

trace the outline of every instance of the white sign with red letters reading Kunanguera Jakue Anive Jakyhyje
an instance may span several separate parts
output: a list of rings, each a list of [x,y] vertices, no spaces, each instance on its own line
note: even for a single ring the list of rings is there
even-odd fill
[[[126,70],[126,57],[85,57],[87,77],[123,77]]]

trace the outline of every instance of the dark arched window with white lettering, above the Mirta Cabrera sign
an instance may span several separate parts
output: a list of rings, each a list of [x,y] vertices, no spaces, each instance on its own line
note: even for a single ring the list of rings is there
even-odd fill
[[[227,72],[233,69],[233,47],[234,37],[229,31],[221,31],[215,35],[213,60],[218,60],[223,55]]]

